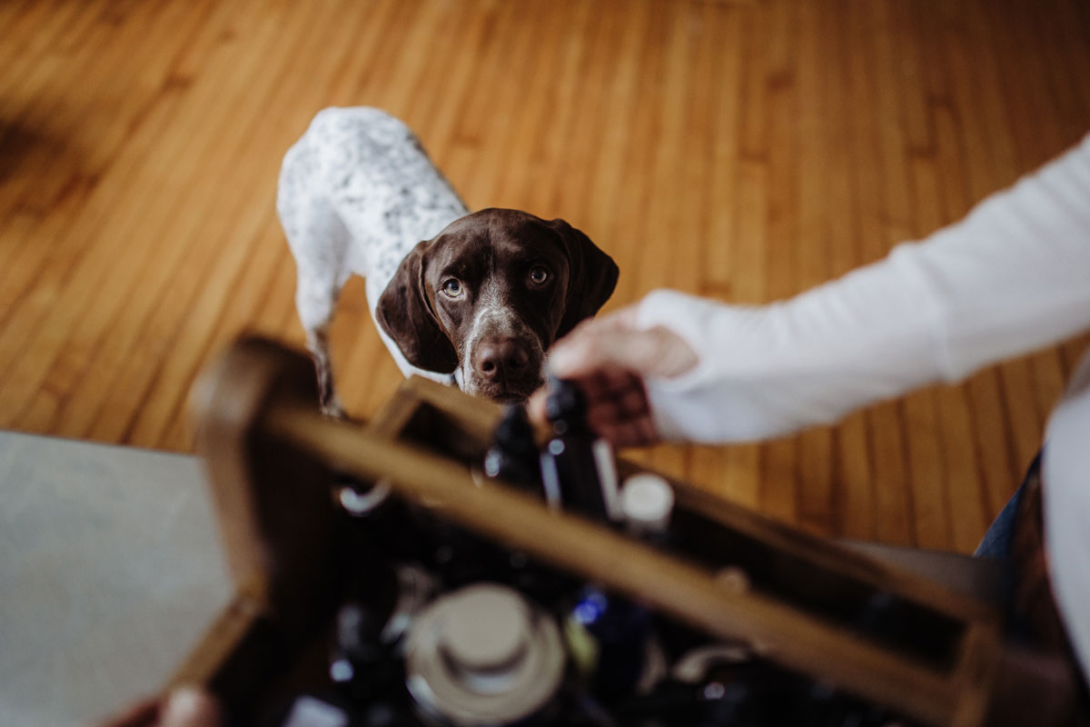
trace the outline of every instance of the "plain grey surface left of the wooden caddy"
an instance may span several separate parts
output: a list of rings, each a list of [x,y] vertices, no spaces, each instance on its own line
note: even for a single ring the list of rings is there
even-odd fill
[[[157,691],[229,596],[196,458],[0,432],[0,726]]]

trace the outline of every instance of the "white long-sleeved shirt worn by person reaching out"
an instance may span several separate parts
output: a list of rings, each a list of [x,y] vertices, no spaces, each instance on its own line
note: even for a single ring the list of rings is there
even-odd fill
[[[735,306],[655,291],[639,325],[697,351],[652,378],[661,434],[744,441],[829,423],[859,407],[1090,329],[1090,136],[923,242],[787,301]],[[1059,609],[1090,664],[1090,358],[1052,416],[1046,547]]]

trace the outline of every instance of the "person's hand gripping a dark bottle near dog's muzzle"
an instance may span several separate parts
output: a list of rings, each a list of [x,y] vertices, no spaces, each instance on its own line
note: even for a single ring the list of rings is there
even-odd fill
[[[590,427],[614,446],[627,447],[661,439],[644,378],[680,376],[697,362],[685,339],[667,328],[637,328],[637,307],[630,305],[577,326],[552,348],[548,367],[582,389]],[[546,420],[547,396],[540,389],[530,398],[528,409],[536,422]]]

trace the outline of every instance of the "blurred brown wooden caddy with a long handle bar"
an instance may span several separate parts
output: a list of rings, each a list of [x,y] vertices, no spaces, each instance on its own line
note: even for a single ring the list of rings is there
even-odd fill
[[[1003,644],[989,605],[686,483],[671,483],[670,553],[481,485],[471,469],[500,409],[452,388],[410,379],[370,424],[332,421],[305,354],[249,339],[193,401],[237,595],[174,681],[208,684],[243,722],[324,674],[346,569],[335,471],[386,480],[505,547],[919,724],[1020,724],[1019,708],[1066,689],[1049,664]],[[896,628],[872,628],[877,605]]]

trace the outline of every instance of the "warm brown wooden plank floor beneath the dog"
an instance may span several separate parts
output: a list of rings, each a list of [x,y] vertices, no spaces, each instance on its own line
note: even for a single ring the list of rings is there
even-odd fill
[[[227,341],[301,343],[276,175],[330,105],[407,120],[471,207],[584,230],[621,268],[607,310],[662,286],[755,303],[1090,130],[1090,4],[5,0],[0,427],[186,450]],[[399,375],[362,293],[334,346],[366,416]],[[967,552],[1085,343],[834,428],[635,456],[814,532]]]

